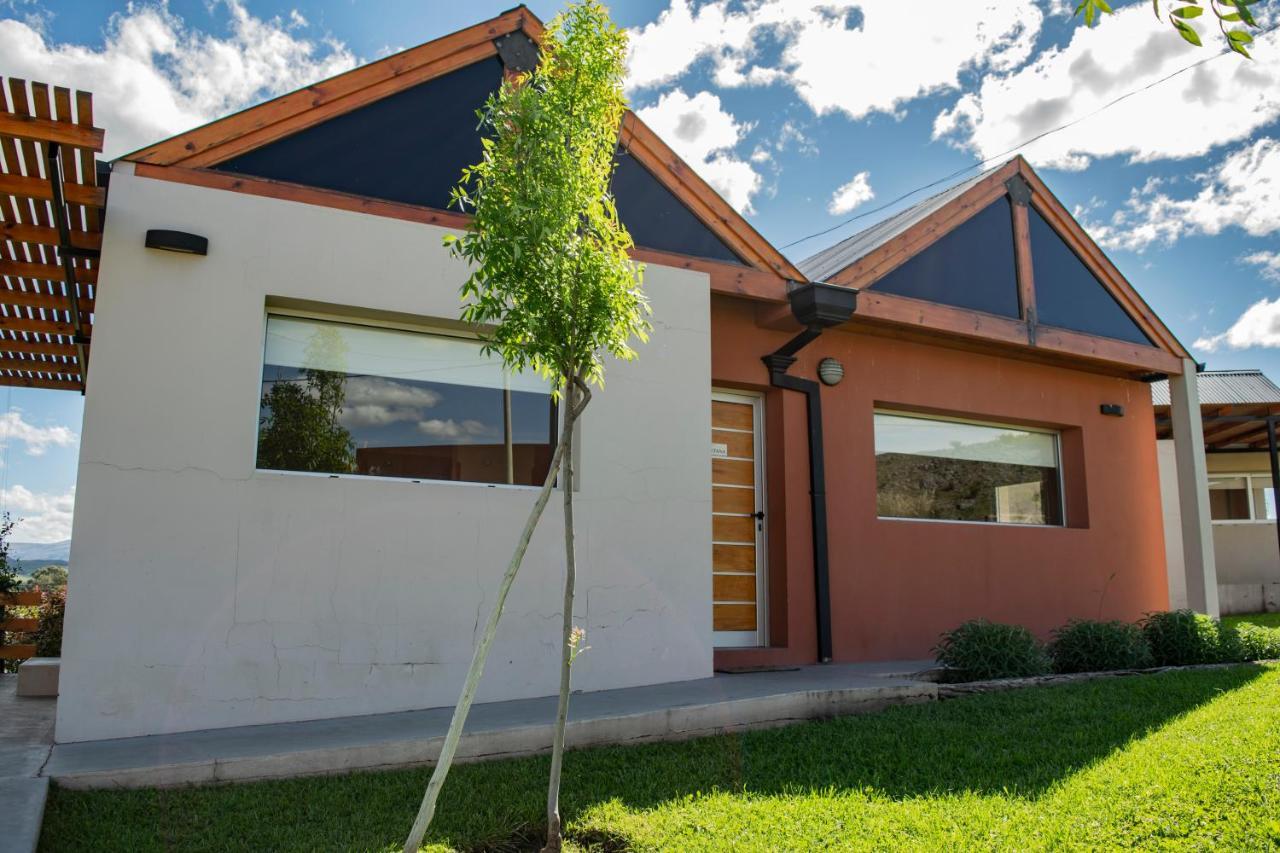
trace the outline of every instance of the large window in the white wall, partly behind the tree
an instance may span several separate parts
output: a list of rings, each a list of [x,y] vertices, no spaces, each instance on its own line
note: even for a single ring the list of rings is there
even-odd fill
[[[534,485],[554,444],[548,383],[479,341],[268,318],[260,469]]]

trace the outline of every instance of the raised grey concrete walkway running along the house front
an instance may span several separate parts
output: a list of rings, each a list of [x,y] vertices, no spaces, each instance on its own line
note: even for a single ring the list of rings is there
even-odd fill
[[[805,666],[579,693],[566,740],[570,747],[676,740],[927,702],[937,685],[911,675],[929,666]],[[426,765],[439,754],[452,713],[430,708],[58,744],[44,775],[69,788],[141,788]],[[457,757],[545,752],[554,715],[554,697],[476,704]]]

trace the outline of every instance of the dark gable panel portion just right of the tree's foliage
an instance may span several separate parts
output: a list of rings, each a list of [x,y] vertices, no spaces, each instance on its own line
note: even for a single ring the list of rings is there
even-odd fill
[[[613,172],[613,197],[618,219],[631,232],[636,246],[742,263],[671,190],[625,151],[620,152],[618,168]]]

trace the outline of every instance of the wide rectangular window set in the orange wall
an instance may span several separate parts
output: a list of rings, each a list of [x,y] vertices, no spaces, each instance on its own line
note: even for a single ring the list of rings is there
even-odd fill
[[[1061,525],[1057,434],[876,412],[876,510],[887,519]]]

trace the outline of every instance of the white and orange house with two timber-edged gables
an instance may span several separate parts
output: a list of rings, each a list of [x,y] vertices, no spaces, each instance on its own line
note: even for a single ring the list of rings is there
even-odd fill
[[[113,164],[91,324],[8,374],[87,378],[59,740],[456,699],[558,412],[458,323],[442,238],[540,32],[517,8]],[[1194,364],[1023,159],[799,265],[632,114],[613,188],[655,328],[575,442],[577,688],[1166,606],[1148,382],[1207,519]],[[557,503],[481,702],[557,683]]]

